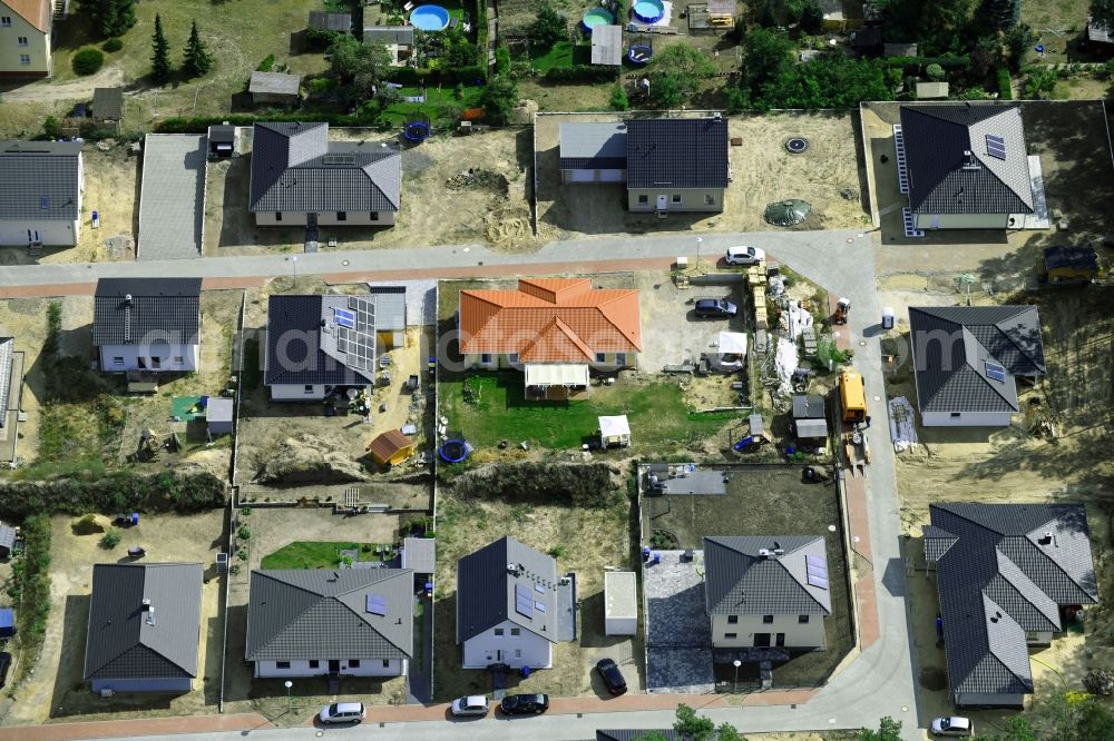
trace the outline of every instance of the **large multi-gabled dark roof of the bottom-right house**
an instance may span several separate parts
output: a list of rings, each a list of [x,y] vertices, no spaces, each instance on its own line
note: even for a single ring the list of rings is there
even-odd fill
[[[1025,632],[1058,631],[1058,605],[1098,601],[1085,510],[958,502],[929,516],[951,691],[1032,692]]]

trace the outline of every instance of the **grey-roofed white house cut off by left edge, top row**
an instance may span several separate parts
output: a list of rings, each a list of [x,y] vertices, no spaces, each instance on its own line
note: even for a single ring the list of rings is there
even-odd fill
[[[72,247],[84,189],[80,141],[0,142],[0,245]]]

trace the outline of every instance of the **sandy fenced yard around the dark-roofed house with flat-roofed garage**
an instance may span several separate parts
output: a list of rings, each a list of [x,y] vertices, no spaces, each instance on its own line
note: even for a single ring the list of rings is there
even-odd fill
[[[536,126],[538,157],[538,229],[546,238],[578,238],[597,234],[672,234],[701,231],[776,230],[766,224],[766,205],[786,198],[812,204],[812,215],[794,228],[848,229],[869,224],[862,206],[852,118],[830,113],[732,116],[730,147],[733,175],[722,214],[629,214],[622,185],[564,186],[558,155],[559,128],[570,121],[614,121],[615,113],[539,116]],[[790,155],[785,140],[809,139],[802,155]],[[862,180],[864,182],[864,179]]]

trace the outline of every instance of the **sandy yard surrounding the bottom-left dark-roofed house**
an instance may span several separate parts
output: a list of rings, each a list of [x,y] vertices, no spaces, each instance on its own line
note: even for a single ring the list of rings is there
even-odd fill
[[[111,720],[211,712],[221,681],[221,581],[215,577],[214,563],[222,550],[223,517],[223,510],[189,516],[144,515],[139,525],[121,531],[124,539],[113,551],[99,547],[99,534],[75,534],[75,518],[53,517],[47,635],[33,673],[6,692],[0,708],[3,724],[32,725],[72,720],[78,714],[85,720]],[[99,522],[105,527],[110,524],[104,516]],[[82,682],[92,584],[90,564],[128,561],[127,549],[131,545],[145,546],[148,559],[154,561],[199,562],[205,567],[198,676],[187,694],[118,694],[104,699],[89,692]]]

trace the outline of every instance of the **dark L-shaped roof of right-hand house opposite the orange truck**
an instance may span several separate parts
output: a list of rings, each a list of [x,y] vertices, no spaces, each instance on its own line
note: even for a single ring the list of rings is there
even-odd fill
[[[1045,374],[1035,306],[910,307],[909,335],[921,413],[1016,412],[1014,376]]]

